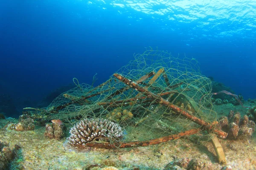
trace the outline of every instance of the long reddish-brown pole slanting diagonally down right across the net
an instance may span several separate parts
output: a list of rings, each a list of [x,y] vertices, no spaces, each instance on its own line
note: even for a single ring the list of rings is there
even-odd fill
[[[186,112],[185,110],[183,110],[183,109],[177,107],[176,105],[173,105],[172,103],[168,102],[167,100],[163,99],[161,96],[148,91],[148,89],[146,89],[146,88],[143,88],[142,86],[138,85],[136,82],[133,82],[130,79],[127,79],[127,78],[125,78],[124,76],[122,76],[120,74],[114,74],[114,77],[116,77],[120,81],[124,82],[125,84],[130,85],[130,87],[135,88],[135,90],[145,94],[149,98],[155,99],[156,102],[158,102],[159,104],[165,105],[165,106],[171,108],[176,113],[179,113],[182,116],[184,116],[184,117],[190,119],[191,121],[197,123],[198,125],[201,125],[206,130],[212,130],[212,132],[218,134],[219,137],[221,137],[221,138],[226,138],[227,137],[226,132],[224,132],[222,130],[214,129],[214,126],[212,126],[208,122],[205,122],[204,120],[199,119],[198,117],[191,115],[190,113]]]

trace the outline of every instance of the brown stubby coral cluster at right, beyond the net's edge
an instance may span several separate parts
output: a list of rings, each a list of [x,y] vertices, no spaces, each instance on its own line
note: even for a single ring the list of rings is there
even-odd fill
[[[229,139],[245,139],[255,131],[255,123],[249,120],[247,115],[241,119],[239,112],[230,111],[228,117],[222,116],[219,125],[222,130],[228,132]]]

